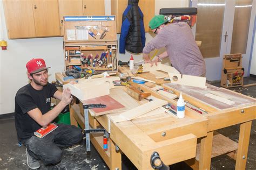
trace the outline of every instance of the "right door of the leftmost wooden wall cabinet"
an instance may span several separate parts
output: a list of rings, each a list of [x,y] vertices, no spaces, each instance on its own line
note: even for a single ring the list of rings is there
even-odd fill
[[[32,0],[36,36],[60,36],[58,0]]]

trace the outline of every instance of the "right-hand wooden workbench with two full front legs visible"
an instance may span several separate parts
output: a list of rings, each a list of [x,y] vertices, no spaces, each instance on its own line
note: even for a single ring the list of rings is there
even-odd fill
[[[207,84],[207,89],[167,83],[163,87],[174,91],[179,95],[182,91],[183,98],[199,108],[203,108],[208,114],[207,136],[201,139],[199,169],[210,169],[213,143],[213,131],[240,124],[239,143],[235,169],[245,169],[248,145],[250,140],[252,120],[256,117],[256,100],[225,88],[218,88]],[[234,105],[228,105],[205,96],[207,90],[218,91],[232,97]]]

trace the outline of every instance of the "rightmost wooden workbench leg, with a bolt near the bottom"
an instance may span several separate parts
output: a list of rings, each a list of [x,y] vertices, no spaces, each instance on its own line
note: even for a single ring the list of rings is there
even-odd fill
[[[240,170],[240,169],[245,169],[246,167],[251,126],[252,126],[252,121],[242,123],[240,125],[238,149],[237,149],[237,161],[235,162],[235,169]]]

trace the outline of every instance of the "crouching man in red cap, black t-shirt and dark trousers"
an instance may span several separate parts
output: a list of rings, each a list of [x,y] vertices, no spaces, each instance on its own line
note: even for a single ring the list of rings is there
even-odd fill
[[[26,63],[29,84],[17,91],[15,96],[15,126],[19,142],[26,147],[27,164],[31,169],[56,164],[62,158],[59,147],[72,146],[83,139],[82,130],[75,126],[57,124],[58,128],[39,138],[34,132],[48,126],[72,101],[69,88],[63,92],[48,82],[48,68],[43,59],[32,59]],[[51,97],[60,102],[50,110]]]

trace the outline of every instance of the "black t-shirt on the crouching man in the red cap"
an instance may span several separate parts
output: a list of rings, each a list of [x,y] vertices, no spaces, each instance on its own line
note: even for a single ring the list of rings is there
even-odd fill
[[[22,141],[33,136],[33,133],[42,128],[28,114],[28,111],[38,108],[42,114],[50,110],[51,97],[57,88],[48,83],[42,90],[34,89],[27,84],[17,91],[15,96],[15,126],[18,140]]]

